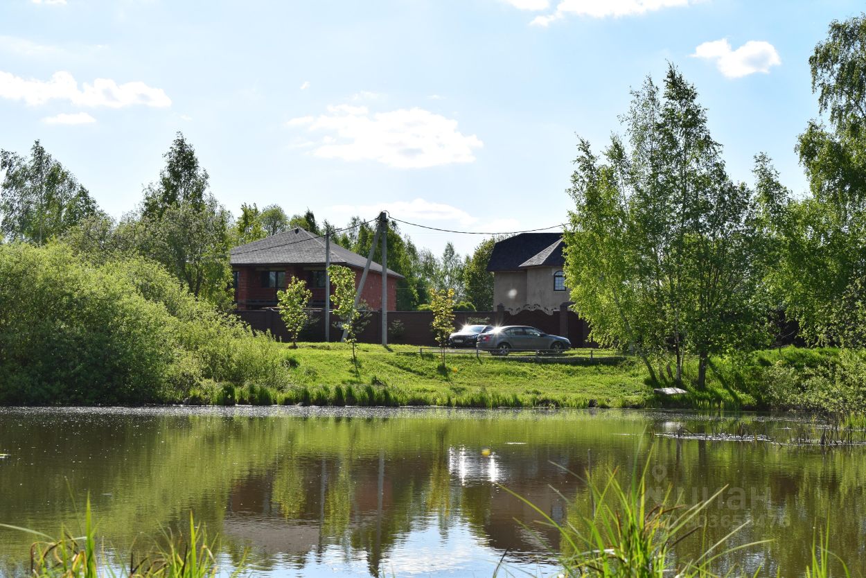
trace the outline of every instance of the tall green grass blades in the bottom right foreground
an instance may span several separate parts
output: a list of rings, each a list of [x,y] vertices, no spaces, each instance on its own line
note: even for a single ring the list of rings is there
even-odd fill
[[[650,456],[652,451],[650,451]],[[559,464],[557,464],[559,465]],[[561,465],[559,467],[565,468]],[[643,468],[636,466],[631,472],[630,482],[620,482],[619,472],[609,471],[602,484],[596,484],[589,472],[585,478],[569,471],[581,479],[589,490],[590,503],[583,504],[589,513],[578,513],[581,504],[573,504],[572,513],[565,521],[557,523],[546,511],[504,486],[512,496],[527,504],[541,519],[543,525],[553,527],[560,537],[559,548],[551,547],[557,560],[560,576],[581,578],[727,578],[744,577],[744,570],[721,569],[724,561],[743,549],[753,549],[769,540],[759,540],[727,547],[727,542],[746,526],[732,529],[716,542],[707,540],[707,527],[701,525],[701,512],[706,510],[726,488],[721,488],[706,500],[687,505],[672,499],[670,490],[659,503],[654,503],[647,491],[647,474],[650,458]],[[567,471],[567,470],[566,470]],[[563,497],[565,499],[565,497]],[[706,523],[706,521],[705,521]],[[541,543],[540,534],[524,524]],[[675,547],[687,539],[700,540],[700,554],[687,557],[678,555]],[[837,555],[829,549],[829,524],[812,543],[811,564],[805,568],[805,578],[829,578],[830,575],[849,577]],[[831,566],[841,568],[843,574],[831,571]],[[753,576],[759,575],[758,568]]]

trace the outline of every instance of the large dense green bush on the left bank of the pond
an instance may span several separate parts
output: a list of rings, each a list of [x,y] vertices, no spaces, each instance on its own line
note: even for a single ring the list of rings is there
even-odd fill
[[[279,389],[291,362],[158,264],[0,245],[0,404],[172,402],[217,383]]]

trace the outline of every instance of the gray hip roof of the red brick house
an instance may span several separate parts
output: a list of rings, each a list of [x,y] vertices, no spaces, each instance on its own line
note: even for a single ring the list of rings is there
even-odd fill
[[[229,258],[234,265],[325,265],[325,238],[313,235],[300,227],[285,233],[277,233],[259,241],[240,245],[231,250]],[[352,253],[344,247],[331,242],[331,264],[346,265],[363,269],[366,257]],[[370,270],[382,272],[382,265],[370,263]],[[396,271],[388,270],[388,275],[403,277]]]

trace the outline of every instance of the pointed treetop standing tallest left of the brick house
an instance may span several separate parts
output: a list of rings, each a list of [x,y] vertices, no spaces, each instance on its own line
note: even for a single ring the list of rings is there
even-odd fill
[[[175,135],[159,179],[145,188],[141,212],[147,218],[160,218],[173,205],[204,205],[210,177],[199,165],[196,150],[184,133]]]

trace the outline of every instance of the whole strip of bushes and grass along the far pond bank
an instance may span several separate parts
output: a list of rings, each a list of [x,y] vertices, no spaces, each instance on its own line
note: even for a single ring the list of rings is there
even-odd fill
[[[560,406],[803,410],[866,409],[866,356],[783,347],[683,366],[688,393],[624,356],[579,365],[525,363],[417,347],[301,343],[254,334],[197,300],[145,259],[78,255],[67,245],[0,245],[0,405]]]

